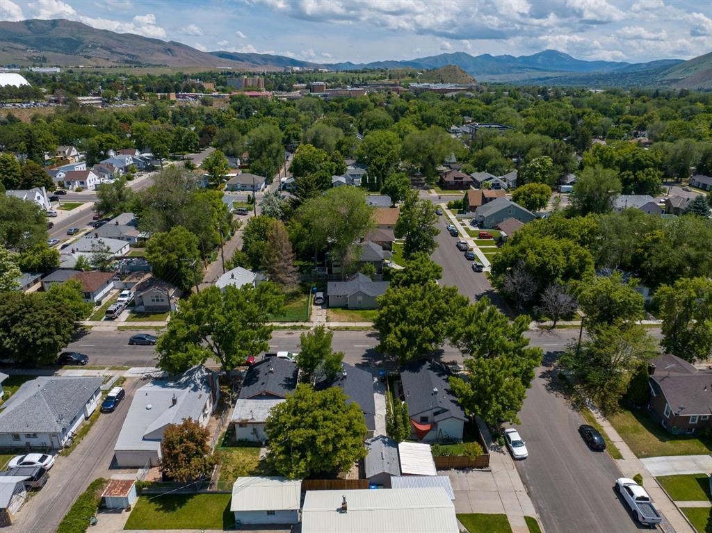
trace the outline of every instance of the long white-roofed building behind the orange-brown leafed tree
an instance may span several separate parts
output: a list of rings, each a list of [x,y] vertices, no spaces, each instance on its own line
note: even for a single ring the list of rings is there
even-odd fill
[[[173,379],[155,379],[136,391],[114,446],[120,468],[157,466],[163,433],[191,418],[208,424],[220,397],[217,373],[194,366]]]

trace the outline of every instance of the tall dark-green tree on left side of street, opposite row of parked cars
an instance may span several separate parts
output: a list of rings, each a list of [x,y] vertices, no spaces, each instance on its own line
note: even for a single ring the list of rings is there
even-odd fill
[[[418,198],[417,191],[407,194],[395,227],[395,235],[404,239],[403,255],[411,258],[414,253],[433,253],[437,248],[435,236],[440,233],[435,223],[438,216],[435,206]]]

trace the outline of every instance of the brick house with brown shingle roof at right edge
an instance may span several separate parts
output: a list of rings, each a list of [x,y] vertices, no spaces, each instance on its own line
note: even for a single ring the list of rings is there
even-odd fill
[[[648,410],[670,433],[712,428],[712,371],[701,371],[674,355],[653,359]]]

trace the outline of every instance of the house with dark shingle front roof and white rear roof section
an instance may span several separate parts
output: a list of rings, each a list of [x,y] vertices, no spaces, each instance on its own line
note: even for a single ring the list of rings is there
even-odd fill
[[[296,364],[277,357],[268,357],[247,369],[230,420],[236,440],[267,440],[265,423],[269,412],[294,391],[297,371]]]

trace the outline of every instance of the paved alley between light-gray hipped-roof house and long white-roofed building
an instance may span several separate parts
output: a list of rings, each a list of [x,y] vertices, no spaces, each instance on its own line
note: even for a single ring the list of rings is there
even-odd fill
[[[57,458],[47,484],[23,505],[9,532],[46,533],[56,531],[76,498],[98,477],[110,477],[114,443],[140,379],[124,384],[126,397],[113,413],[101,414],[91,431],[66,457]]]

